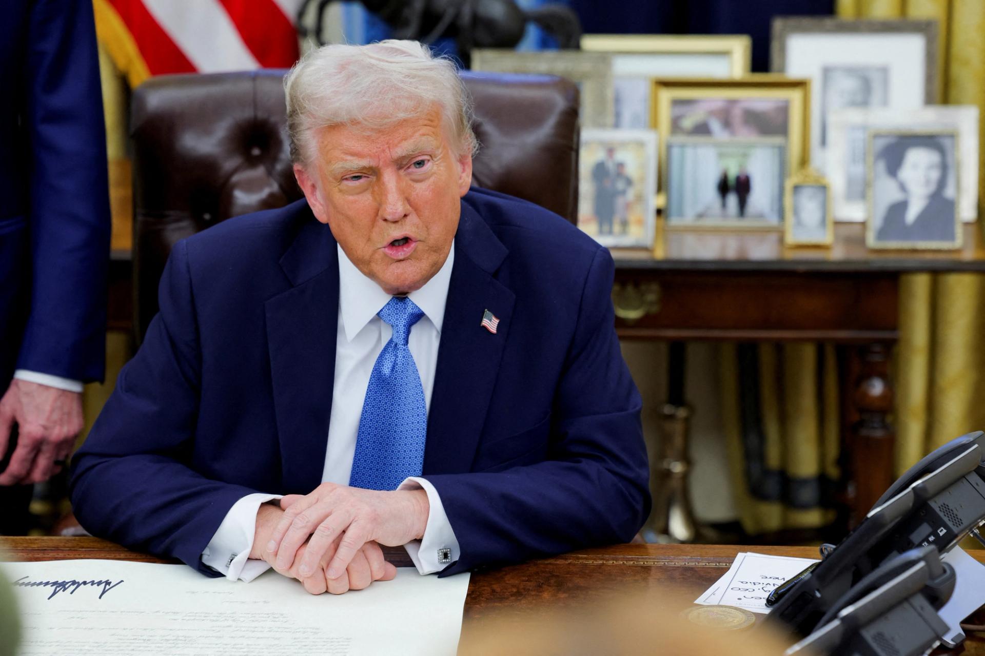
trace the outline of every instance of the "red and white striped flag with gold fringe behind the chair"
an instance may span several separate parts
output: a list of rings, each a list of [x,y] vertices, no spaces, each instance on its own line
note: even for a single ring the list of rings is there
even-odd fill
[[[99,42],[136,87],[164,73],[288,68],[302,0],[93,0]]]

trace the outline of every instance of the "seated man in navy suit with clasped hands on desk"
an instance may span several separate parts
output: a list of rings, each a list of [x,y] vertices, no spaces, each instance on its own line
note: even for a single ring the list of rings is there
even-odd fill
[[[471,189],[449,61],[331,45],[285,82],[305,200],[179,242],[75,459],[82,524],[318,594],[628,541],[649,509],[609,252]],[[280,501],[278,501],[280,500]]]

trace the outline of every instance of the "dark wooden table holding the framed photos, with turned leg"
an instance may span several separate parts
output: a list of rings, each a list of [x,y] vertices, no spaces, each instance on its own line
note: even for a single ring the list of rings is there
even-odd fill
[[[653,252],[613,252],[613,302],[624,338],[846,345],[842,444],[849,464],[867,463],[866,476],[846,486],[861,517],[893,480],[894,434],[886,417],[892,411],[888,371],[899,334],[899,277],[985,271],[985,241],[977,223],[964,226],[964,247],[953,252],[870,251],[861,223],[837,223],[834,234],[831,248],[788,249],[779,232],[658,226]]]

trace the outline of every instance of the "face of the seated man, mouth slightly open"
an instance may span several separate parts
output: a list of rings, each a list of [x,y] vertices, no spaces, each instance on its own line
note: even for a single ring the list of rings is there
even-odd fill
[[[385,130],[322,129],[316,161],[295,165],[315,218],[388,294],[420,289],[444,264],[458,229],[472,157],[449,146],[438,108]]]

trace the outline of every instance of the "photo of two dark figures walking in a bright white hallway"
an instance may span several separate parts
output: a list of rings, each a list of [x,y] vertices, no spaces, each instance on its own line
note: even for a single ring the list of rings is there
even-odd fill
[[[668,145],[668,222],[780,225],[784,151],[771,143]]]

